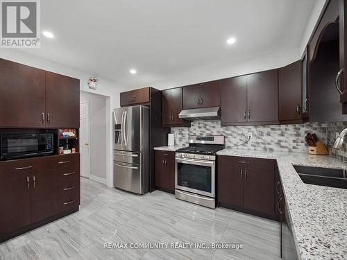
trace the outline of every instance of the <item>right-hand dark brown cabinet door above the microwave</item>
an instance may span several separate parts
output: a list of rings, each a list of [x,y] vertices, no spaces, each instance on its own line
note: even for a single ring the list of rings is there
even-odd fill
[[[79,128],[80,80],[46,71],[46,126]]]

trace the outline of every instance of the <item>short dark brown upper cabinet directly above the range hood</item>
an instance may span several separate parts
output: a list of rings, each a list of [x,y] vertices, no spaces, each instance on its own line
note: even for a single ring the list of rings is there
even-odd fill
[[[221,104],[219,80],[183,87],[183,109],[218,107]]]

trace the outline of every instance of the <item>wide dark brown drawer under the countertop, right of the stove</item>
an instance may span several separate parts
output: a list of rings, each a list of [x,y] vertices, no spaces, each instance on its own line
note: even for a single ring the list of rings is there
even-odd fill
[[[262,170],[275,170],[274,159],[219,155],[218,160],[218,163],[221,165],[244,166],[247,168],[258,168]]]

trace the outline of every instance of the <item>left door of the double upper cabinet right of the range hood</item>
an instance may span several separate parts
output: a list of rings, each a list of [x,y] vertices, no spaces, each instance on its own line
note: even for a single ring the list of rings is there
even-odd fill
[[[226,78],[221,85],[221,125],[246,122],[246,76]]]

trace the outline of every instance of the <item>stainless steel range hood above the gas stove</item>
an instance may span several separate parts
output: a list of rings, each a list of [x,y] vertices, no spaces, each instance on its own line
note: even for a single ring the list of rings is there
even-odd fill
[[[180,119],[189,121],[199,120],[219,120],[221,119],[220,107],[194,108],[192,110],[182,110],[178,115]]]

